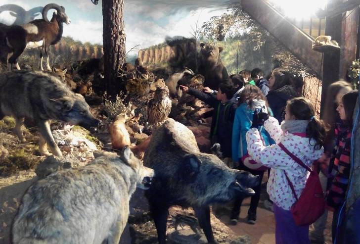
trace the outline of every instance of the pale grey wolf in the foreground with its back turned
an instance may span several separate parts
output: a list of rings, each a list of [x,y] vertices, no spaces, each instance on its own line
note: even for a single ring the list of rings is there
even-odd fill
[[[129,147],[95,151],[90,165],[60,171],[32,185],[12,225],[13,244],[118,244],[135,188],[154,171]]]

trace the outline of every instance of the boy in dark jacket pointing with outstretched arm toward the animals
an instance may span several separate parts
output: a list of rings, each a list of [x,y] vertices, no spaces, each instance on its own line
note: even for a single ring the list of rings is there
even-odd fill
[[[229,83],[219,85],[216,98],[196,89],[181,86],[183,92],[192,95],[214,108],[211,122],[211,143],[219,143],[224,157],[231,157],[232,123],[236,110],[236,103],[230,101],[233,96],[233,86]]]

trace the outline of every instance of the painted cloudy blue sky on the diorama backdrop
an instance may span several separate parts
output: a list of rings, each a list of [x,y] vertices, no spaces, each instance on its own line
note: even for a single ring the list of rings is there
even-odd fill
[[[25,10],[55,2],[65,7],[71,24],[64,24],[64,36],[75,40],[102,44],[101,0],[94,5],[90,0],[0,0],[17,4]],[[127,50],[162,43],[166,37],[190,37],[191,26],[201,24],[214,15],[225,12],[229,0],[125,0],[125,32]],[[50,14],[48,15],[50,18]],[[12,24],[9,12],[0,13],[0,22]]]

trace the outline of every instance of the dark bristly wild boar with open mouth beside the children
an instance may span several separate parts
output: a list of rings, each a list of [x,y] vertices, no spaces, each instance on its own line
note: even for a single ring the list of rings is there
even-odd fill
[[[166,221],[172,205],[193,207],[208,242],[214,243],[209,205],[253,195],[251,187],[259,184],[257,176],[230,169],[216,155],[200,152],[193,133],[173,119],[153,133],[144,165],[155,171],[145,195],[159,244],[166,243]]]

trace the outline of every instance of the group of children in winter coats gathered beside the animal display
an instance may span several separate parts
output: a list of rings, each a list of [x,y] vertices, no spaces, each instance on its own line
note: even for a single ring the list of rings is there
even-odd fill
[[[300,97],[293,75],[274,69],[268,79],[261,69],[243,70],[203,92],[181,86],[184,92],[212,106],[211,142],[221,145],[224,157],[236,168],[260,175],[269,169],[267,192],[273,203],[277,244],[324,242],[325,213],[310,227],[295,224],[291,206],[301,195],[309,172],[297,160],[312,167],[319,164],[319,177],[326,193],[326,207],[334,211],[333,240],[339,209],[344,204],[350,177],[351,132],[358,91],[345,81],[333,83],[327,92],[324,120]],[[290,154],[292,156],[290,156]],[[292,185],[292,186],[291,186]],[[253,188],[247,221],[255,224],[261,184]],[[236,199],[230,223],[236,224],[243,199]]]

